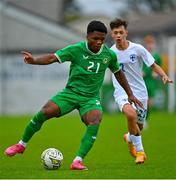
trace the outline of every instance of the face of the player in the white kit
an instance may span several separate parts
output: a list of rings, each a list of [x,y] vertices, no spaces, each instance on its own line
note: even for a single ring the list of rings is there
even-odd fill
[[[126,41],[128,31],[124,26],[119,26],[111,30],[111,36],[117,44],[123,44]]]

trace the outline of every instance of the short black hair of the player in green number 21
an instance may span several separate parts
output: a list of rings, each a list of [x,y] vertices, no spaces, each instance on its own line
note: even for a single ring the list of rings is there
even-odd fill
[[[93,20],[87,26],[87,34],[92,33],[94,31],[103,32],[107,34],[107,27],[101,21]]]

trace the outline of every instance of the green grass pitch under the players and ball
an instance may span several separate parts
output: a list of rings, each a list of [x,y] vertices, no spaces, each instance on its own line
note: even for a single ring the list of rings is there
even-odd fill
[[[94,147],[84,160],[88,171],[71,171],[70,163],[85,131],[78,115],[67,115],[46,122],[34,135],[23,155],[6,157],[5,148],[18,142],[29,116],[0,117],[0,178],[42,179],[144,179],[176,178],[176,114],[154,112],[149,128],[143,131],[148,159],[135,165],[123,142],[126,120],[122,114],[105,114]],[[59,149],[64,163],[59,170],[45,170],[40,155],[49,147]]]

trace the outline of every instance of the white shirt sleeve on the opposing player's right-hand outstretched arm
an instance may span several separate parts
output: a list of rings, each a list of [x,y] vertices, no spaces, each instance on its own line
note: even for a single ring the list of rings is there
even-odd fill
[[[143,62],[150,67],[154,62],[155,59],[153,58],[153,56],[150,54],[150,52],[145,49],[142,45],[139,46],[139,51],[140,51],[140,56],[143,60]]]

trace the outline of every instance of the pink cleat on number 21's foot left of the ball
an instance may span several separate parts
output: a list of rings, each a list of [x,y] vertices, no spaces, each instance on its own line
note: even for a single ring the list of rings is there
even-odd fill
[[[4,154],[7,156],[14,156],[18,153],[23,153],[24,150],[25,150],[25,147],[18,143],[18,144],[15,144],[13,146],[8,147],[5,150]]]

